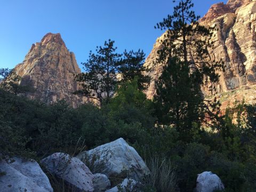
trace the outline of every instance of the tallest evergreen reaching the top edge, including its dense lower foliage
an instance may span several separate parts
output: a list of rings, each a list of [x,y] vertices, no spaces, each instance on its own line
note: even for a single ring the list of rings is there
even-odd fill
[[[190,125],[188,123],[184,129],[191,127],[196,118],[197,121],[204,121],[202,114],[208,114],[207,117],[212,119],[216,117],[212,110],[218,109],[219,104],[204,101],[200,87],[207,81],[211,81],[212,84],[218,82],[219,75],[216,71],[222,67],[222,62],[215,62],[208,51],[213,47],[211,37],[215,28],[199,25],[199,16],[195,15],[193,6],[191,0],[178,1],[173,14],[167,15],[167,18],[155,26],[166,30],[161,42],[163,48],[158,51],[156,62],[167,65],[159,78],[160,82],[156,83],[158,95],[155,100],[157,105],[165,106],[166,103],[174,102],[172,95],[179,95],[175,98],[175,102],[178,103],[176,107],[169,106],[169,109],[165,109],[165,115],[171,115],[169,112],[172,110],[176,110],[176,115],[186,115]],[[175,73],[180,75],[177,76]],[[175,78],[178,78],[179,83],[175,82]],[[181,83],[182,81],[187,83]],[[185,90],[186,92],[183,92]],[[177,122],[175,125],[180,124],[181,122]]]

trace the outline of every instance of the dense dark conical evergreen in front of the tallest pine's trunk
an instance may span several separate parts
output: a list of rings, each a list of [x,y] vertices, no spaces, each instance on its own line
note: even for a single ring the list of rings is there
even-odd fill
[[[187,140],[193,124],[199,124],[204,117],[200,87],[195,86],[188,66],[177,57],[164,67],[154,101],[158,123],[174,125],[182,140]]]

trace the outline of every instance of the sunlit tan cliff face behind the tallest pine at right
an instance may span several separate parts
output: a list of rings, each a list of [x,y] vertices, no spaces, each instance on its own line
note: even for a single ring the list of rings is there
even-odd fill
[[[220,71],[220,81],[203,87],[205,96],[219,92],[226,92],[242,86],[251,86],[256,82],[256,0],[229,0],[214,4],[205,16],[199,21],[201,25],[214,26],[212,38],[214,49],[209,50],[212,58],[225,62],[225,72]],[[147,97],[152,98],[155,94],[155,80],[162,73],[162,66],[154,66],[153,61],[157,58],[157,50],[161,49],[159,37],[153,50],[146,59],[145,66],[151,68],[149,75],[152,77]],[[192,58],[193,59],[193,58]],[[209,90],[213,87],[214,91]]]

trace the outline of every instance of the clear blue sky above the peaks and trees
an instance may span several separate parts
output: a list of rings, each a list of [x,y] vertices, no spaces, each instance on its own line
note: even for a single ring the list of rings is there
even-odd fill
[[[105,40],[115,40],[118,52],[150,53],[163,31],[157,22],[172,13],[172,0],[0,0],[0,68],[22,62],[31,44],[46,33],[60,33],[76,60],[86,61],[89,51]],[[194,0],[201,17],[221,0]]]

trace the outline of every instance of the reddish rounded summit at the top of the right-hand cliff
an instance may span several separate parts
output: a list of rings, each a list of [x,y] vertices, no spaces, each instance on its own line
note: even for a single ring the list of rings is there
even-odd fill
[[[226,13],[232,13],[234,12],[230,7],[224,3],[216,3],[213,4],[209,11],[204,15],[202,19],[200,19],[200,22],[204,21],[212,21],[215,18],[218,18],[219,16],[226,14]]]

